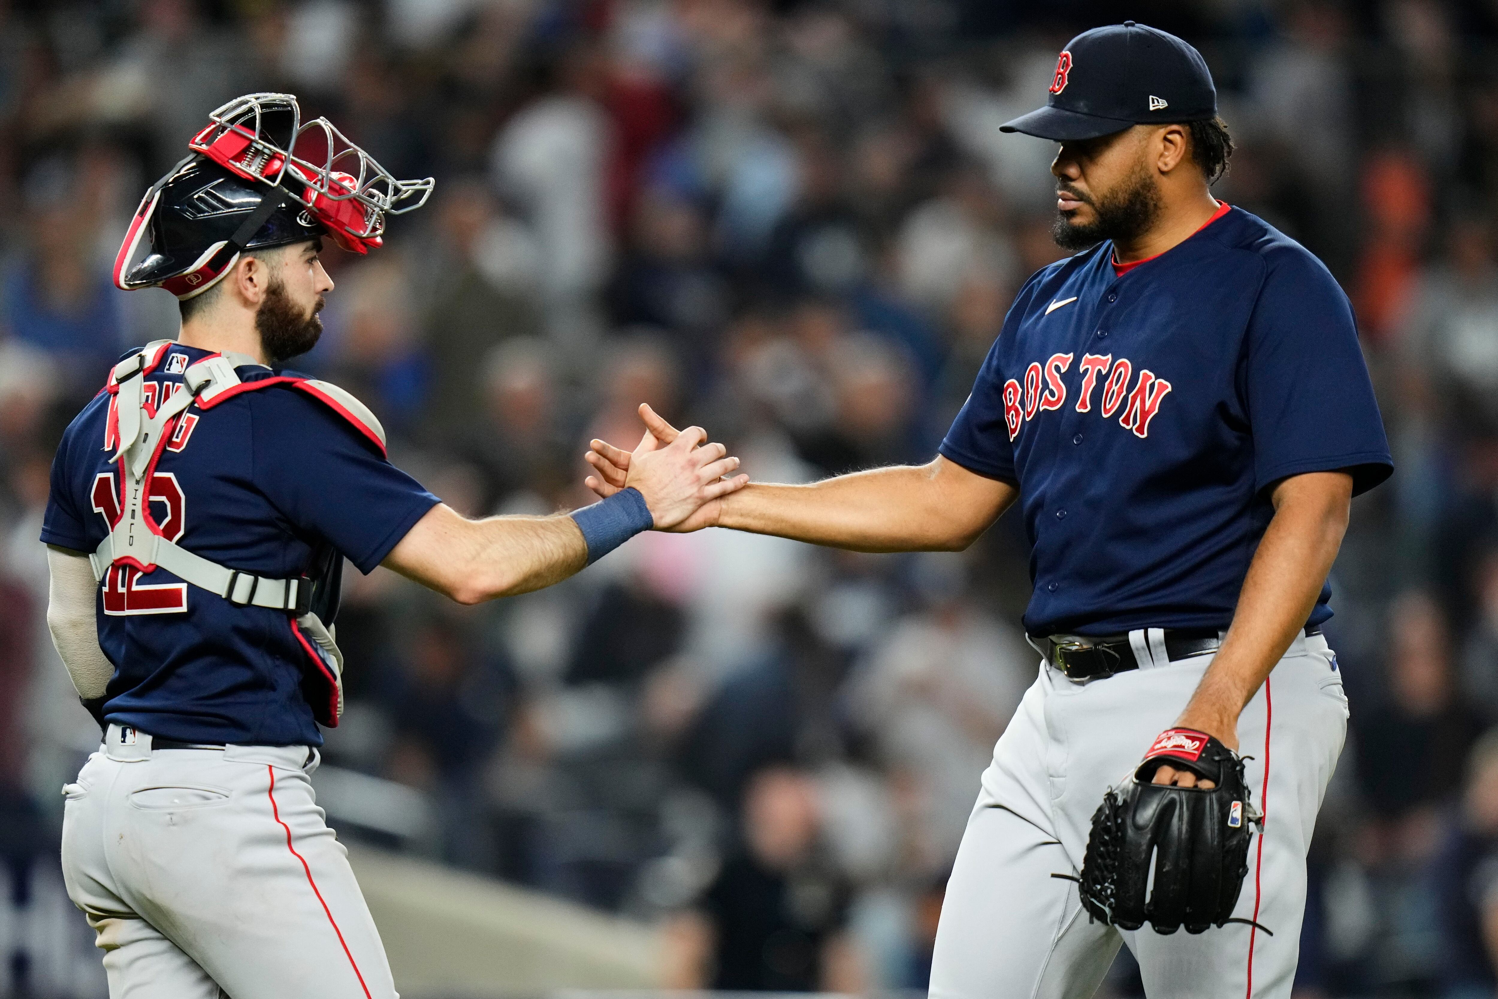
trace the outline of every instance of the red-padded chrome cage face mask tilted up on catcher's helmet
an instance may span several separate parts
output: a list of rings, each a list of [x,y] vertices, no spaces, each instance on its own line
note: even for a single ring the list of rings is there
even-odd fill
[[[380,246],[386,214],[419,208],[433,180],[395,180],[327,118],[301,121],[294,94],[247,94],[211,115],[187,148],[246,180],[280,187],[345,250]]]

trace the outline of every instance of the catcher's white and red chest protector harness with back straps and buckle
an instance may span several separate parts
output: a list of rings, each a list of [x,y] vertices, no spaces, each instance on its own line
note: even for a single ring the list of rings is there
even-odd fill
[[[162,535],[151,517],[150,482],[162,449],[171,440],[177,422],[189,406],[207,412],[241,392],[271,386],[289,386],[313,395],[360,433],[385,449],[385,431],[374,415],[360,400],[337,385],[301,376],[274,376],[241,382],[237,367],[261,367],[243,353],[214,353],[183,371],[183,385],[169,397],[151,404],[145,394],[145,376],[166,355],[171,340],[156,340],[138,353],[120,361],[109,374],[106,391],[114,395],[109,427],[118,449],[111,458],[120,466],[120,518],[88,556],[94,580],[103,581],[115,566],[130,566],[150,572],[157,566],[183,583],[208,590],[237,607],[264,607],[285,611],[297,643],[307,653],[303,689],[321,725],[337,726],[343,714],[343,653],[334,641],[333,628],[325,626],[312,611],[313,580],[271,580],[241,572],[204,559]]]

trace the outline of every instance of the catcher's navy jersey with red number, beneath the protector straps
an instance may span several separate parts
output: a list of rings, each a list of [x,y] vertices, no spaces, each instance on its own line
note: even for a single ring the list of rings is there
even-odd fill
[[[147,374],[147,400],[166,398],[205,356],[172,346]],[[294,391],[270,368],[237,373],[243,385],[178,421],[151,476],[151,514],[163,536],[226,568],[316,577],[315,610],[331,623],[342,557],[370,572],[437,497],[336,400]],[[42,527],[49,545],[93,551],[117,517],[111,398],[100,392],[63,434]],[[99,644],[115,668],[109,722],[181,741],[322,743],[303,692],[315,646],[286,611],[237,607],[160,568],[111,569],[97,601]]]

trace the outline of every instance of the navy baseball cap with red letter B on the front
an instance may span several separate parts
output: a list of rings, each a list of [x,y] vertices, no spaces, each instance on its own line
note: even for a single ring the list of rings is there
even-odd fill
[[[1095,139],[1152,121],[1216,117],[1201,52],[1134,21],[1083,31],[1056,60],[1046,106],[999,126],[1056,142]]]

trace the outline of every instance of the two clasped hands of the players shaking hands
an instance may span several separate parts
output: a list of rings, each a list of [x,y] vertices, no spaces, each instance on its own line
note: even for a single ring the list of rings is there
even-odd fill
[[[608,499],[632,488],[644,497],[656,530],[691,532],[712,527],[722,509],[721,500],[749,484],[748,475],[734,475],[739,458],[721,443],[704,443],[701,427],[677,430],[647,404],[640,406],[646,433],[634,451],[593,440],[584,455],[596,475],[586,485]]]

